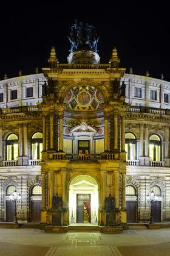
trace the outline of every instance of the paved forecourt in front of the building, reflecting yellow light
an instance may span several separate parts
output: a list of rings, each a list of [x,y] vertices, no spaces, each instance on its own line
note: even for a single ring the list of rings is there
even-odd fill
[[[2,256],[169,256],[169,242],[170,229],[126,230],[117,235],[0,229]]]

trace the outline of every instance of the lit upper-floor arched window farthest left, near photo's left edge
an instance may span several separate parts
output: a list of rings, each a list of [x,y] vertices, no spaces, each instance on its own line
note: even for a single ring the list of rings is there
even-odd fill
[[[18,136],[10,134],[6,140],[7,160],[17,160],[18,157]]]

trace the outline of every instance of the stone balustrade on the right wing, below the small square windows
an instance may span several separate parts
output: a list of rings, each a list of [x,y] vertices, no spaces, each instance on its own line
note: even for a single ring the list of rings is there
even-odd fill
[[[163,108],[155,108],[155,107],[138,107],[138,106],[131,106],[127,108],[127,112],[134,112],[134,113],[151,113],[154,115],[170,115],[169,109]]]

